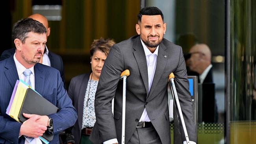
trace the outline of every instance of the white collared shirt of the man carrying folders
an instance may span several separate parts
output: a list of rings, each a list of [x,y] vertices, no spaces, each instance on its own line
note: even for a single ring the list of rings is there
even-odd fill
[[[13,55],[13,59],[17,68],[17,72],[18,72],[18,76],[19,79],[22,79],[23,81],[25,81],[25,75],[23,74],[23,72],[27,69],[25,68],[25,66],[23,66],[15,57],[16,53]],[[32,74],[30,74],[30,82],[31,82],[31,87],[32,89],[35,89],[35,72],[34,72],[34,66],[32,66],[31,68],[29,68],[29,70],[32,72]],[[31,137],[25,137],[25,144],[42,144],[42,141],[39,138],[31,138]],[[28,140],[30,142],[28,142]]]

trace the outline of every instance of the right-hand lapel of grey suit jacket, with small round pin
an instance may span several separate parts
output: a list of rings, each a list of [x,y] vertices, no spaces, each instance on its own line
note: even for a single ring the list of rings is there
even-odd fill
[[[158,57],[157,57],[157,63],[156,63],[156,70],[154,74],[154,79],[150,88],[150,93],[148,96],[150,96],[156,86],[158,85],[158,81],[160,80],[163,70],[165,68],[167,58],[168,58],[168,53],[165,52],[166,47],[161,43],[158,49]]]

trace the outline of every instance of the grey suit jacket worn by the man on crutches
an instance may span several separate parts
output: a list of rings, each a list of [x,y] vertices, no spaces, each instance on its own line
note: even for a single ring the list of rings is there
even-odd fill
[[[159,46],[156,71],[149,91],[147,61],[139,35],[113,45],[109,52],[95,95],[96,123],[90,140],[98,144],[117,138],[121,143],[122,81],[119,81],[119,77],[126,69],[130,70],[130,76],[126,83],[125,142],[130,140],[146,108],[161,142],[170,144],[167,85],[171,72],[175,75],[174,81],[189,138],[197,142],[182,48],[163,39]],[[115,98],[114,116],[111,112],[113,98]]]

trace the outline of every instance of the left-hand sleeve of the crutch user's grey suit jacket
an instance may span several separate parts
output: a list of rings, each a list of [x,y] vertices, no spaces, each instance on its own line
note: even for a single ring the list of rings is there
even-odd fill
[[[117,138],[111,100],[115,96],[124,60],[119,45],[114,44],[102,68],[95,95],[95,114],[102,141]]]

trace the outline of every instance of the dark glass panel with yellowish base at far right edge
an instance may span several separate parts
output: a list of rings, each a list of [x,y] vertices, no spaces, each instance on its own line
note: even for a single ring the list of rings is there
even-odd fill
[[[255,143],[256,2],[230,1],[230,144]]]

